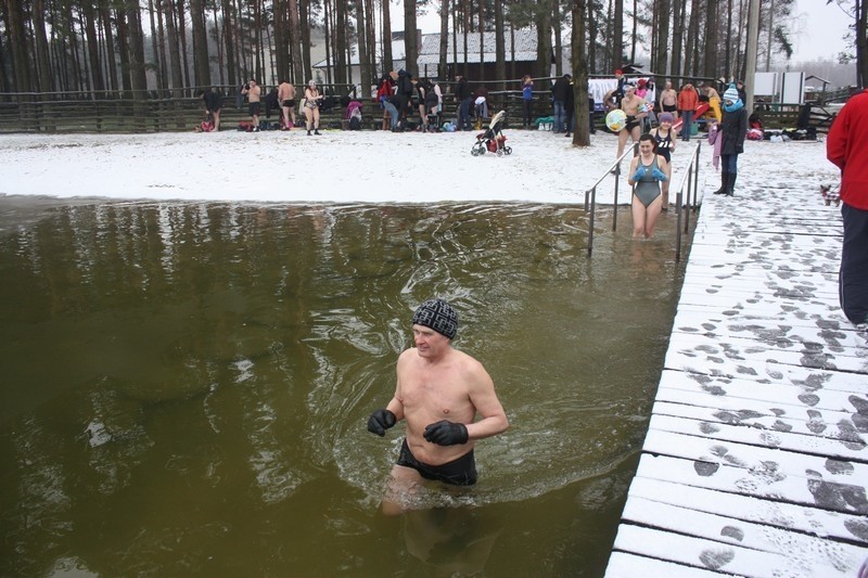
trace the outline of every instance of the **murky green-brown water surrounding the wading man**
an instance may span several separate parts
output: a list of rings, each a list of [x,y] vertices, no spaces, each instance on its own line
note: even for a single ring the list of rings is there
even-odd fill
[[[674,218],[610,222],[588,260],[572,206],[0,200],[0,575],[599,575],[681,278]],[[435,295],[512,426],[400,529],[365,422]]]

